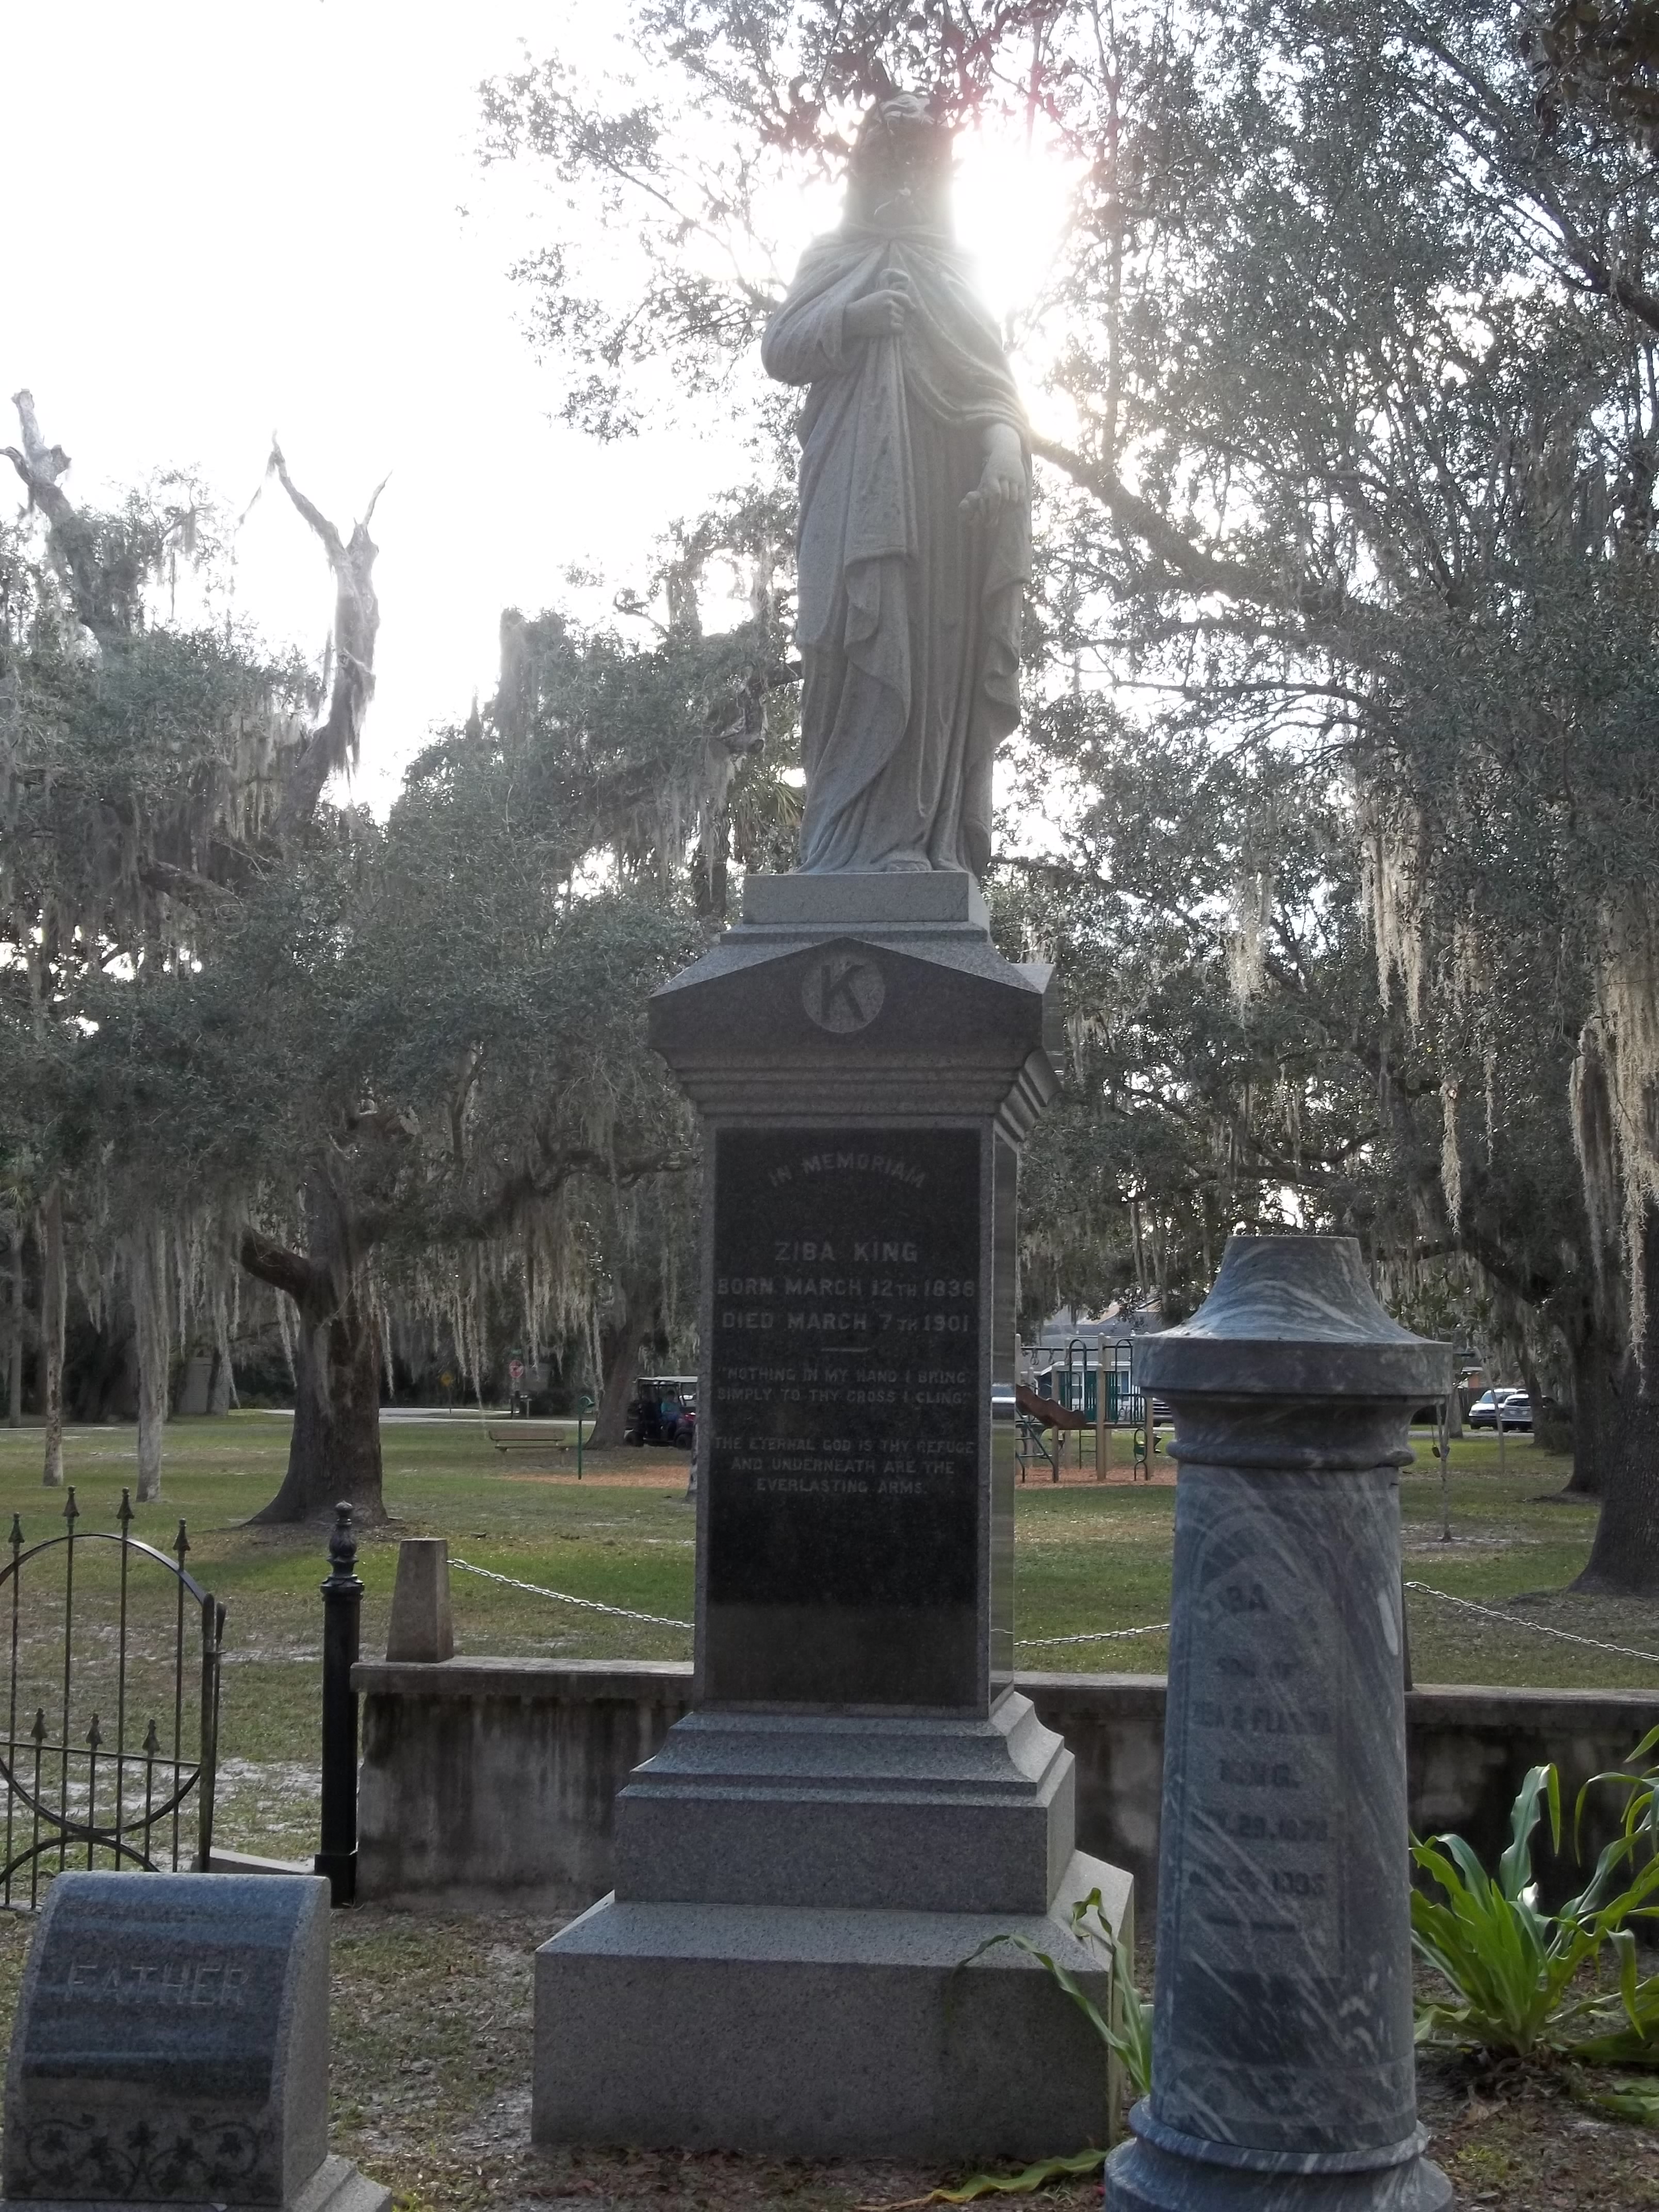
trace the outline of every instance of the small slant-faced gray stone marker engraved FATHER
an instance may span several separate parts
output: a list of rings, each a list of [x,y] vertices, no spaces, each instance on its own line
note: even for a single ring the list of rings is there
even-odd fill
[[[60,1874],[7,2068],[0,2212],[389,2212],[327,2150],[327,1882]]]

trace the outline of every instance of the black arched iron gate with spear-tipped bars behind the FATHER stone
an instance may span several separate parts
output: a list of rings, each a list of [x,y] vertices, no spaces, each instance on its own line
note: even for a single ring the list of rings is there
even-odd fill
[[[184,1522],[168,1557],[133,1537],[128,1491],[117,1533],[77,1520],[73,1489],[64,1535],[24,1544],[13,1515],[0,1568],[11,1637],[0,1907],[20,1911],[60,1867],[204,1871],[212,1854],[226,1608],[186,1573]]]

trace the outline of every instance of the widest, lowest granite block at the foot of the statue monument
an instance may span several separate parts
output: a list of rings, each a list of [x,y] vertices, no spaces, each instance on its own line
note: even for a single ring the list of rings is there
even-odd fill
[[[538,2143],[779,2157],[1035,2159],[1106,2143],[1106,2051],[1024,1936],[1106,2011],[1071,1931],[1130,1878],[1075,1851],[1048,1913],[602,1898],[535,1955]],[[971,1962],[971,1964],[969,1964]]]

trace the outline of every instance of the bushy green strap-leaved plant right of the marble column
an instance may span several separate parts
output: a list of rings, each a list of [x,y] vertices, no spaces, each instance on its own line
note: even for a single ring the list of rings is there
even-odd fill
[[[1659,1741],[1648,1739],[1637,1754]],[[1411,1891],[1411,1944],[1451,1986],[1451,2004],[1418,2008],[1418,2042],[1504,2057],[1566,2057],[1599,2066],[1659,2066],[1659,1975],[1637,1973],[1632,1922],[1659,1918],[1659,1858],[1641,1865],[1646,1814],[1630,1807],[1655,1776],[1595,1776],[1632,1785],[1626,1820],[1595,1863],[1586,1887],[1544,1911],[1533,1880],[1533,1832],[1548,1809],[1562,1843],[1562,1781],[1555,1765],[1533,1767],[1515,1796],[1509,1847],[1486,1874],[1462,1836],[1411,1838],[1411,1856],[1440,1898]],[[1595,1783],[1586,1783],[1586,1790]],[[1584,1792],[1579,1792],[1579,1816]],[[1635,1871],[1632,1871],[1635,1869]],[[1619,1887],[1624,1882],[1624,1887]],[[1613,1980],[1599,1966],[1610,1953]],[[1586,1969],[1597,1969],[1586,1986]]]

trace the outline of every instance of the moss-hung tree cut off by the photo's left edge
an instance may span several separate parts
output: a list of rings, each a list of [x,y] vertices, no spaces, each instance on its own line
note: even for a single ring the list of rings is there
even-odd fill
[[[27,509],[0,529],[0,1033],[7,1055],[11,1405],[20,1391],[22,1243],[33,1217],[44,1480],[62,1482],[71,1248],[115,1279],[139,1338],[139,1498],[161,1473],[168,1283],[157,1261],[177,1186],[111,1170],[77,1124],[71,1068],[108,978],[144,995],[190,962],[270,845],[305,761],[305,677],[234,633],[157,619],[179,566],[217,551],[219,518],[181,476],[119,511],[77,507],[69,456],[29,392],[4,458]]]

